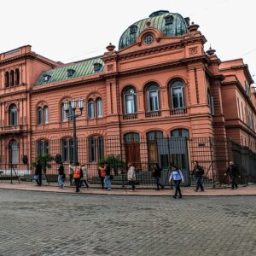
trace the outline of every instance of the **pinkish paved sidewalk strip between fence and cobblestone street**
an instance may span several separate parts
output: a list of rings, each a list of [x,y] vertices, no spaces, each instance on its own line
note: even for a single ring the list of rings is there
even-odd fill
[[[59,189],[56,185],[43,185],[42,187],[36,186],[34,183],[0,183],[0,189],[17,189],[27,191],[44,191],[55,193],[73,193],[75,194],[74,187],[65,187]],[[99,188],[85,189],[84,187],[78,194],[94,194],[94,195],[153,195],[153,196],[171,196],[174,190],[163,189],[136,189],[131,191],[130,187],[125,189],[112,189],[110,191]],[[205,189],[204,192],[195,192],[193,188],[182,188],[184,196],[222,196],[222,195],[256,195],[256,184],[248,185],[247,187],[239,187],[238,189]]]

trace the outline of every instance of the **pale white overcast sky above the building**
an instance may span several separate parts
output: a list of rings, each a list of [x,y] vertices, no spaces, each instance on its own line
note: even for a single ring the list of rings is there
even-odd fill
[[[200,25],[221,61],[243,58],[256,80],[253,0],[2,0],[0,52],[31,44],[54,61],[102,55],[122,32],[156,10],[169,10]]]

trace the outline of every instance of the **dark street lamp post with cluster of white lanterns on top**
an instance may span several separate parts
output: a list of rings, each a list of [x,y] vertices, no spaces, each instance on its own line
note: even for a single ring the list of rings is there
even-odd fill
[[[76,113],[76,109],[79,108],[80,113]],[[64,102],[64,110],[67,113],[67,118],[73,120],[73,164],[77,166],[78,164],[78,144],[77,144],[77,117],[81,116],[84,109],[84,100],[72,100],[70,102]],[[68,114],[69,113],[69,114]]]

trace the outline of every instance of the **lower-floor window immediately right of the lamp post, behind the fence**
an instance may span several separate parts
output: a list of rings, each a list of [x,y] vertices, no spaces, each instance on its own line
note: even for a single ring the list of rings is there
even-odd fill
[[[103,137],[89,138],[89,160],[95,162],[104,157],[104,140]]]

